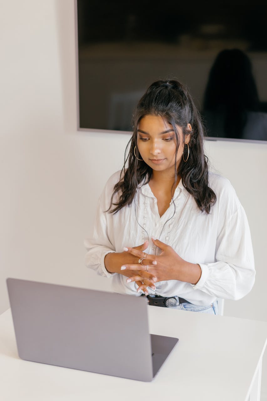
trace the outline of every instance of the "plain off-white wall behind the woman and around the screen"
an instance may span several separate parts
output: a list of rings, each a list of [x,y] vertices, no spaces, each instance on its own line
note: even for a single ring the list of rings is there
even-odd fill
[[[77,131],[74,22],[73,0],[0,2],[0,313],[6,277],[109,289],[84,267],[83,239],[129,134]],[[206,153],[245,207],[255,252],[255,286],[225,314],[267,321],[267,144],[206,142]]]

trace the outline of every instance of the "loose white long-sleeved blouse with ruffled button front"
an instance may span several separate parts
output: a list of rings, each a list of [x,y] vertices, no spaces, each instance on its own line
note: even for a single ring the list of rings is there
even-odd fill
[[[210,214],[201,212],[192,195],[180,180],[169,208],[160,217],[157,199],[149,184],[140,185],[135,202],[116,214],[105,212],[110,205],[120,172],[113,174],[99,198],[93,235],[85,240],[86,265],[99,275],[111,277],[114,292],[139,296],[135,282],[109,273],[104,258],[109,252],[122,252],[149,240],[146,252],[158,254],[152,235],[170,245],[183,259],[200,265],[202,274],[197,284],[178,280],[148,287],[150,294],[180,296],[196,305],[208,305],[216,298],[238,300],[249,293],[255,281],[251,235],[247,217],[230,182],[209,173],[209,186],[217,196]],[[117,194],[114,201],[117,200]]]

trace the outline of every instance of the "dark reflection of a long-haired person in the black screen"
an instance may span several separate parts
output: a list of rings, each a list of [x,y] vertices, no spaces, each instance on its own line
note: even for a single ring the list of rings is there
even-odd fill
[[[207,135],[267,140],[267,113],[259,111],[259,104],[249,57],[239,49],[221,51],[204,94]]]

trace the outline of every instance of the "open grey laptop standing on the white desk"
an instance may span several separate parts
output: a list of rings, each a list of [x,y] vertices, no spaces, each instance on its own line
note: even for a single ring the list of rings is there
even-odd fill
[[[151,381],[178,342],[149,334],[146,297],[6,281],[24,360]]]

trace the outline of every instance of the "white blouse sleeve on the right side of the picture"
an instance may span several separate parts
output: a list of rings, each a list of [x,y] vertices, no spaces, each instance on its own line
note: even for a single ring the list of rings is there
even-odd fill
[[[255,267],[249,224],[241,205],[218,235],[215,260],[200,263],[202,274],[193,288],[232,300],[247,295],[255,282]]]

